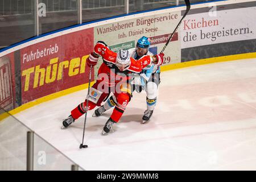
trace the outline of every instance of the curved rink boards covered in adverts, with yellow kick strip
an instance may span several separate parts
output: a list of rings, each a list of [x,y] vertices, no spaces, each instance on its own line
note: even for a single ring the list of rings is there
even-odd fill
[[[237,56],[241,59],[255,57],[256,27],[252,23],[255,6],[255,1],[192,5],[164,52],[162,71],[236,60]],[[9,79],[12,91],[9,102],[12,103],[7,107],[2,97],[1,106],[17,113],[85,89],[88,85],[85,60],[98,40],[104,40],[117,51],[134,48],[137,39],[144,35],[152,41],[150,51],[159,53],[184,11],[185,6],[180,6],[116,16],[40,35],[3,49],[0,57],[11,54],[14,61]],[[228,34],[226,31],[230,28],[234,35],[221,36]],[[213,35],[218,37],[215,39]],[[99,65],[94,69],[93,80]]]

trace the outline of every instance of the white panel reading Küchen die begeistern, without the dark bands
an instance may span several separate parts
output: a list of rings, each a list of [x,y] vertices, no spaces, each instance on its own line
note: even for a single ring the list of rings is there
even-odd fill
[[[181,48],[256,39],[256,7],[187,15],[180,26]]]

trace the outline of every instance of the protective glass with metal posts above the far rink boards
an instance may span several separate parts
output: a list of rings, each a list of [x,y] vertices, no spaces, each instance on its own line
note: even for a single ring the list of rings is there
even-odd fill
[[[199,1],[208,0],[191,0]],[[6,32],[0,35],[0,49],[75,24],[179,3],[179,0],[0,0],[0,28]]]

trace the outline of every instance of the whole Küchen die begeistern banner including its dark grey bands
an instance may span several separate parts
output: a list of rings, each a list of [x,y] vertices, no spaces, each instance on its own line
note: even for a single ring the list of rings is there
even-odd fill
[[[256,2],[192,9],[180,26],[181,62],[256,52],[255,17]]]

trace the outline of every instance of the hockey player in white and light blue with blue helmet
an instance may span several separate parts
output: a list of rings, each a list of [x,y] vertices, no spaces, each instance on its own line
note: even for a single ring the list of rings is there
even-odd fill
[[[129,49],[131,57],[134,59],[140,59],[144,55],[153,56],[153,53],[148,51],[150,47],[150,40],[143,36],[141,39],[138,40],[136,48]],[[147,93],[146,102],[147,102],[147,109],[144,111],[144,115],[142,117],[142,123],[146,123],[150,120],[155,105],[156,99],[158,97],[158,86],[160,83],[160,67],[156,64],[150,64],[146,68],[143,69],[139,75],[134,76],[134,89],[140,93],[142,89],[144,89]],[[102,115],[106,110],[109,110],[111,107],[114,107],[117,104],[117,100],[115,96],[111,96],[108,101],[105,102],[104,105],[98,107],[94,111],[93,116],[98,117]]]

